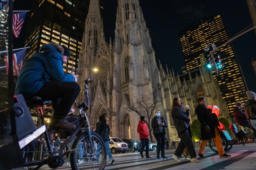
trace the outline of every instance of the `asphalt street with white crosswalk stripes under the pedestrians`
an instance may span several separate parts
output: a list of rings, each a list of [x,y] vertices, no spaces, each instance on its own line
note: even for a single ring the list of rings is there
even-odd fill
[[[241,148],[243,149],[243,148]],[[256,150],[237,150],[233,152],[228,152],[232,157],[230,158],[219,158],[219,155],[211,150],[204,152],[204,156],[206,159],[200,159],[200,163],[190,163],[189,160],[184,160],[184,158],[180,158],[180,162],[172,159],[172,154],[174,150],[171,152],[165,152],[165,156],[168,157],[166,160],[156,159],[156,152],[149,152],[149,156],[152,159],[142,159],[140,157],[140,153],[121,153],[121,154],[113,154],[113,158],[115,162],[112,165],[108,165],[108,156],[107,156],[107,164],[105,170],[167,170],[167,169],[255,169],[256,167]],[[145,156],[145,153],[144,153]],[[252,164],[248,164],[247,162],[252,162]],[[63,166],[58,169],[68,170],[71,167],[67,166],[67,160],[65,159],[65,163]],[[246,163],[244,163],[246,162]],[[253,167],[253,168],[252,168]],[[44,165],[40,168],[40,170],[50,170],[49,166]]]

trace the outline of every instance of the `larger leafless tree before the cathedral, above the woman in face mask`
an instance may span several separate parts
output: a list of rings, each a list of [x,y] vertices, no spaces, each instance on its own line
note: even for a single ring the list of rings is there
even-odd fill
[[[161,105],[161,102],[164,101],[164,97],[160,98],[158,95],[154,96],[154,94],[150,94],[149,96],[140,95],[134,100],[130,100],[128,103],[128,108],[136,112],[140,116],[145,116],[147,118],[147,125],[150,140],[153,140],[152,137],[152,127],[151,120],[154,117],[154,111]]]

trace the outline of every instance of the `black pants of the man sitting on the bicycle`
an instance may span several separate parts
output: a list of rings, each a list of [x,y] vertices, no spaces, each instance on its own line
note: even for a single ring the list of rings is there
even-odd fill
[[[43,100],[52,100],[53,119],[59,120],[68,115],[79,92],[80,86],[76,82],[51,80],[46,82],[34,96],[39,96]]]

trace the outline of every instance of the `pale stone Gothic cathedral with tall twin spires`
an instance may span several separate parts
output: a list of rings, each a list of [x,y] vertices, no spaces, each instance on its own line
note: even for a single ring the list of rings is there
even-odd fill
[[[201,61],[201,65],[203,63]],[[113,42],[111,38],[109,42],[105,41],[99,1],[91,0],[78,62],[78,69],[83,68],[99,70],[78,71],[81,87],[86,78],[93,81],[89,85],[91,103],[87,114],[90,125],[96,127],[99,116],[105,115],[111,137],[139,140],[137,125],[140,116],[147,115],[142,108],[136,112],[130,106],[141,96],[163,99],[154,107],[153,116],[156,109],[161,111],[161,116],[168,123],[166,137],[169,141],[179,140],[170,115],[174,97],[190,106],[191,122],[196,119],[194,110],[198,96],[204,96],[208,105],[217,105],[219,116],[230,120],[220,89],[204,67],[176,76],[167,66],[164,70],[160,61],[158,68],[138,0],[118,0]],[[82,100],[83,96],[81,92],[77,100]],[[147,121],[151,122],[153,116],[150,120],[147,117]],[[153,131],[151,133],[153,136]]]

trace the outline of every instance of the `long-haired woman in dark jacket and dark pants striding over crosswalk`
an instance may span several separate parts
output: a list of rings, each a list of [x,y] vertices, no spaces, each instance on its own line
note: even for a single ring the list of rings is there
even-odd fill
[[[178,125],[179,122],[182,122],[183,124],[186,124],[189,126],[190,119],[186,115],[186,113],[181,109],[180,107],[181,100],[179,98],[174,98],[172,100],[172,118],[174,122],[174,126]],[[175,151],[175,153],[172,155],[172,158],[175,159],[176,161],[180,161],[178,157],[181,157],[185,147],[187,147],[189,155],[190,155],[190,162],[200,162],[199,160],[196,159],[196,151],[194,148],[194,145],[191,141],[191,138],[188,134],[188,129],[185,130],[184,132],[179,132],[177,130],[179,136],[180,136],[180,143]]]

